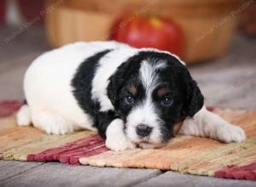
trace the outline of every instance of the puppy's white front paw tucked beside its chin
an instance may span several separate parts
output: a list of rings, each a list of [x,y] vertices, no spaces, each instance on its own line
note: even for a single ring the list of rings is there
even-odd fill
[[[136,148],[136,145],[133,144],[129,139],[125,137],[107,137],[106,146],[110,150],[132,150]]]

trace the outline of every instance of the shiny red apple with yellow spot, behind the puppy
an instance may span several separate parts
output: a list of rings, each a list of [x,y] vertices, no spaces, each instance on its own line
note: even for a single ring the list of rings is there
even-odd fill
[[[179,56],[183,54],[183,31],[166,18],[125,15],[114,22],[110,39],[137,48],[158,48]]]

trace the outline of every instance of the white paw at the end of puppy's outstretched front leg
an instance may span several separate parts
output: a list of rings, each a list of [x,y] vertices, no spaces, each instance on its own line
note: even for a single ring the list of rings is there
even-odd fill
[[[218,127],[217,138],[224,143],[244,142],[246,140],[246,134],[241,127],[229,124]]]

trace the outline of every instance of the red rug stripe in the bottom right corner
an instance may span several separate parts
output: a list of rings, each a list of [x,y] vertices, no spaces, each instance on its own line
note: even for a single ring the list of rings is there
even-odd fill
[[[242,167],[225,167],[224,169],[215,172],[214,176],[218,178],[256,180],[256,162]]]

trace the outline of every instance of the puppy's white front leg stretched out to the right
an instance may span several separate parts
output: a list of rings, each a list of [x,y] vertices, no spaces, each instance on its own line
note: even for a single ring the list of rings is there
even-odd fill
[[[193,118],[187,118],[183,122],[179,133],[209,137],[224,143],[243,142],[246,139],[246,134],[241,127],[224,121],[220,116],[207,111],[205,106]]]

